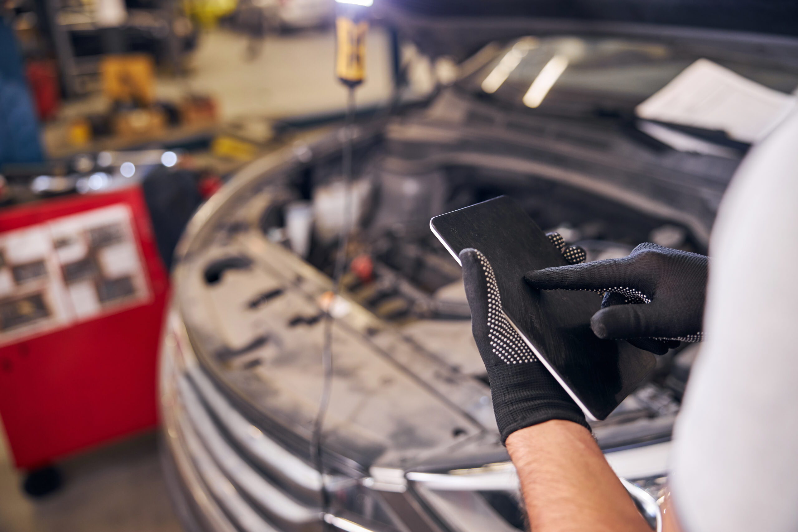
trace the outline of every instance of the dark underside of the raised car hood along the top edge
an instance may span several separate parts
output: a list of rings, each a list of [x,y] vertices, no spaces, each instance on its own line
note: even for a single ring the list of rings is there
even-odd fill
[[[490,41],[535,34],[639,36],[771,41],[798,36],[798,3],[780,0],[381,0],[375,13],[431,57],[464,60]],[[792,39],[790,39],[792,40]]]

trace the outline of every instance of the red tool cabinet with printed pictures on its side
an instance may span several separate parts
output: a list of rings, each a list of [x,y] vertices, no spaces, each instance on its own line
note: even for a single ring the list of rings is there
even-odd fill
[[[167,298],[140,187],[0,210],[0,417],[18,467],[156,425]]]

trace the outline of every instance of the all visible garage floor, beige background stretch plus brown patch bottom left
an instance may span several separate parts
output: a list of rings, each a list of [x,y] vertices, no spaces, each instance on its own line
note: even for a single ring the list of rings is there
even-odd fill
[[[334,39],[329,31],[267,37],[261,53],[247,60],[247,41],[233,33],[203,36],[186,81],[159,80],[160,97],[177,97],[189,86],[219,99],[223,120],[243,115],[289,116],[340,109],[344,90],[333,78]],[[388,38],[369,34],[369,81],[360,104],[385,100],[390,92]],[[69,102],[73,116],[102,110],[99,97]],[[57,128],[58,124],[50,124]],[[48,132],[45,132],[45,139]],[[155,433],[137,436],[60,463],[64,487],[45,499],[20,491],[0,425],[0,532],[178,532],[160,471]]]

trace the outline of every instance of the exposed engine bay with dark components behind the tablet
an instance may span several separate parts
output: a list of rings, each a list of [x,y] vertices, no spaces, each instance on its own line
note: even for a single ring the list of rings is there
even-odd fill
[[[392,138],[393,131],[408,128],[411,120],[394,119],[393,128],[391,123],[385,127],[385,137],[361,128],[350,184],[353,231],[342,289],[348,301],[361,305],[383,326],[397,330],[459,376],[488,384],[472,340],[460,266],[429,230],[434,215],[505,194],[519,202],[544,231],[557,231],[569,244],[582,246],[588,261],[623,257],[638,243],[651,241],[705,252],[705,242],[678,220],[629,208],[568,183],[478,163],[418,164],[418,150],[406,142],[405,133]],[[311,148],[306,145],[292,149],[300,162],[310,157]],[[416,171],[408,171],[409,167]],[[225,243],[236,234],[257,234],[330,278],[346,191],[340,156],[314,157],[314,164],[300,164],[281,174],[247,197],[247,206],[241,205],[237,215],[217,226],[223,231],[217,231],[215,240]],[[243,221],[243,212],[249,213],[250,222]],[[224,270],[247,270],[251,263],[247,256],[226,256],[206,265],[205,278],[218,281]],[[247,294],[247,308],[258,309],[280,295],[285,297],[281,290]],[[266,337],[302,334],[320,326],[323,317],[322,309],[296,313],[288,317],[288,328]],[[255,335],[237,346],[224,345],[217,349],[216,359],[227,365],[239,359],[255,364],[251,353],[262,347],[263,338]],[[609,418],[595,423],[602,447],[670,438],[694,347],[682,344],[658,357],[654,375]]]

